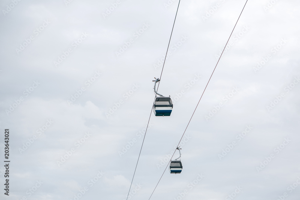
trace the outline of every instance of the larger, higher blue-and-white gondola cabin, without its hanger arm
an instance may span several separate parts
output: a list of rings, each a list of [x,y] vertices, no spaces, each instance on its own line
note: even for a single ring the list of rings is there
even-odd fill
[[[173,109],[173,103],[170,97],[156,97],[153,104],[155,116],[170,116]]]

